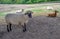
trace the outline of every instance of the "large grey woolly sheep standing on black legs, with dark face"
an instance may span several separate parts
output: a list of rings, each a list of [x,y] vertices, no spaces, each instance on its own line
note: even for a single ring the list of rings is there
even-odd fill
[[[26,31],[26,24],[28,23],[29,18],[32,18],[32,11],[26,11],[24,14],[18,14],[18,13],[13,13],[13,14],[7,14],[5,16],[5,21],[7,23],[7,31],[10,32],[11,25],[21,25],[23,27],[23,32]]]

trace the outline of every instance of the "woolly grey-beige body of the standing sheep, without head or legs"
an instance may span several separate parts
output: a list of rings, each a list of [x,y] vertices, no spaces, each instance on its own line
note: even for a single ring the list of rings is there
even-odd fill
[[[24,14],[7,14],[6,22],[18,25],[19,23],[23,24],[27,18]]]

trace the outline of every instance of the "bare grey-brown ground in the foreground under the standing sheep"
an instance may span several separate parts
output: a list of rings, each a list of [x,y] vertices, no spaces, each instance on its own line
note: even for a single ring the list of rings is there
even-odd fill
[[[60,17],[33,17],[26,32],[16,25],[7,32],[6,25],[0,25],[0,39],[60,39]]]

